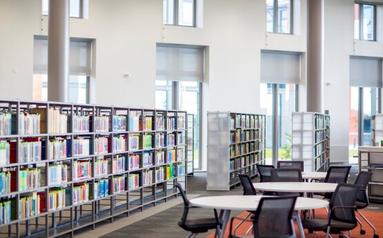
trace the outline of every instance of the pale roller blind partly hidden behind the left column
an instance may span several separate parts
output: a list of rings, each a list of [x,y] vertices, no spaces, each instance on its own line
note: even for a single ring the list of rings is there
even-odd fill
[[[33,52],[33,73],[48,74],[48,39],[35,38]],[[92,70],[92,41],[70,39],[69,75],[90,76]]]

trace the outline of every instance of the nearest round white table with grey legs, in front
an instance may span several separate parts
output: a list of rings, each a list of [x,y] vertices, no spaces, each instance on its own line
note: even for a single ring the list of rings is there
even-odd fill
[[[222,231],[219,237],[224,237],[224,232],[228,224],[231,210],[257,210],[259,200],[265,196],[212,196],[212,197],[197,197],[190,199],[191,206],[201,208],[221,209],[220,217],[223,220]],[[322,199],[312,199],[307,197],[298,197],[295,203],[295,220],[299,228],[299,233],[304,238],[304,230],[300,219],[299,210],[311,210],[315,208],[328,207],[328,201]]]

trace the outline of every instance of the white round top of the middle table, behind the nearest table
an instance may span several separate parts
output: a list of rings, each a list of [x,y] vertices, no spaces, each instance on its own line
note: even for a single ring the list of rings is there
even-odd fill
[[[254,188],[273,192],[334,192],[337,184],[305,182],[254,183]]]

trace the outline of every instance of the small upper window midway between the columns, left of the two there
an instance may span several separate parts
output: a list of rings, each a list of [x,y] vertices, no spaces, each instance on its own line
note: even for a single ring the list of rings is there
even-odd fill
[[[196,0],[163,0],[163,22],[175,26],[195,26]]]

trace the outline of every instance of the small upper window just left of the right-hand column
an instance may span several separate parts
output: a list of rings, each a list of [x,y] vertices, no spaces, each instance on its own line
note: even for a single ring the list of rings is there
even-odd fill
[[[266,32],[291,34],[292,0],[266,0]]]

